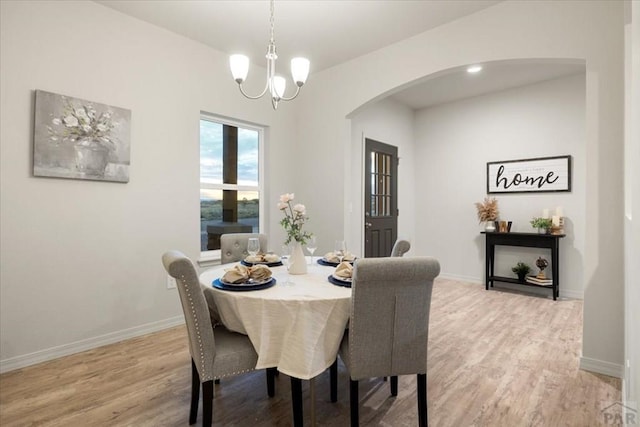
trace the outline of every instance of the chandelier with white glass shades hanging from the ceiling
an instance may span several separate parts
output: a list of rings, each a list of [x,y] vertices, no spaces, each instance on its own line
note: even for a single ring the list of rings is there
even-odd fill
[[[287,81],[284,77],[276,75],[276,59],[278,59],[278,55],[276,54],[276,42],[273,39],[273,2],[274,0],[270,0],[271,5],[271,39],[269,40],[269,46],[267,47],[267,83],[264,87],[264,90],[260,95],[252,96],[248,95],[244,89],[242,88],[242,83],[247,79],[247,74],[249,73],[249,57],[245,55],[231,55],[229,57],[229,65],[231,65],[231,74],[233,74],[233,78],[238,83],[238,88],[240,92],[244,96],[249,99],[258,99],[261,98],[267,91],[271,95],[271,105],[273,109],[278,109],[278,102],[280,101],[291,101],[300,93],[300,88],[306,82],[307,76],[309,75],[309,60],[307,58],[293,58],[291,60],[291,75],[293,77],[293,81],[296,84],[296,93],[293,96],[286,98],[284,96],[284,91],[287,86]]]

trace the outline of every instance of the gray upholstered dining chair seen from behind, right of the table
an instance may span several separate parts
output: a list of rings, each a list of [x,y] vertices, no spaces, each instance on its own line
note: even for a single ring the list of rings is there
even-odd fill
[[[358,426],[358,380],[417,375],[418,423],[427,426],[427,344],[432,257],[363,258],[351,283],[351,317],[339,355],[350,377],[351,426]]]

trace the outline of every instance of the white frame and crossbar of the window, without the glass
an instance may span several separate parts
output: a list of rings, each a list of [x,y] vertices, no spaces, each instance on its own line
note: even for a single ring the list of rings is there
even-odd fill
[[[265,136],[265,127],[264,126],[260,126],[254,123],[248,123],[248,122],[244,122],[241,120],[237,120],[237,119],[229,119],[226,117],[221,117],[221,116],[217,116],[215,114],[211,114],[211,113],[205,113],[205,112],[200,112],[200,119],[198,120],[198,128],[200,127],[200,122],[202,120],[206,120],[209,122],[213,122],[213,123],[217,123],[217,124],[221,124],[221,125],[227,125],[227,126],[234,126],[237,127],[238,129],[248,129],[248,130],[252,130],[258,133],[258,185],[257,186],[252,186],[252,185],[239,185],[239,184],[225,184],[225,183],[221,183],[221,184],[210,184],[210,183],[203,183],[201,181],[201,176],[199,176],[199,182],[200,182],[200,187],[198,190],[198,193],[200,193],[200,190],[203,189],[207,189],[207,190],[236,190],[236,191],[256,191],[259,194],[259,207],[258,207],[258,232],[259,233],[263,233],[264,231],[264,224],[265,224],[265,206],[264,206],[264,136]],[[202,135],[200,134],[200,132],[198,131],[198,147],[201,147],[202,141],[201,141]],[[198,155],[199,160],[200,159],[200,155]],[[198,164],[198,167],[199,164]],[[200,172],[199,172],[200,174]],[[200,204],[200,198],[198,198],[199,201],[198,203]],[[198,211],[200,211],[201,209],[201,205],[198,209]],[[200,227],[198,227],[198,229],[200,229]],[[200,250],[200,264],[203,265],[203,263],[206,262],[210,262],[210,261],[218,261],[220,260],[220,249],[212,249],[212,250],[205,250],[203,251],[202,248]]]

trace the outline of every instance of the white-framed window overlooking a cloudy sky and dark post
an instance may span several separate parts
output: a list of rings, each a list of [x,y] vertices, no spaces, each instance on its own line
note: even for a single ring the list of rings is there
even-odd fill
[[[200,117],[200,250],[220,235],[259,233],[263,129]]]

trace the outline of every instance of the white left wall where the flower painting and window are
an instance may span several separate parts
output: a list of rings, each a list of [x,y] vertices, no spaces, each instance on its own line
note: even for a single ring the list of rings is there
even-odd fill
[[[4,371],[182,322],[160,256],[199,256],[201,110],[269,126],[267,233],[296,188],[295,106],[245,100],[225,54],[93,2],[0,7]],[[131,110],[130,182],[32,177],[35,89]]]

